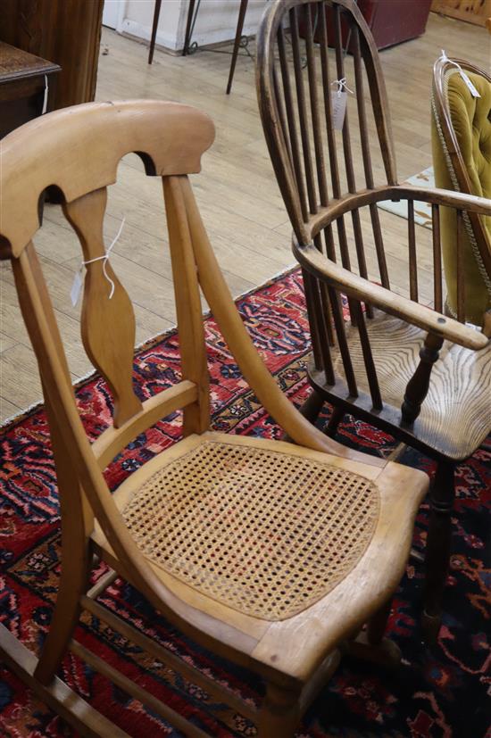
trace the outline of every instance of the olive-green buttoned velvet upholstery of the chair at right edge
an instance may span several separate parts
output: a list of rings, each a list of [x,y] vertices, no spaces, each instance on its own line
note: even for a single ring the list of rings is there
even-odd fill
[[[438,115],[435,90],[432,100],[431,137],[435,183],[437,187],[460,190],[470,195],[491,197],[491,85],[485,77],[466,70],[480,97],[473,97],[456,67],[447,67],[443,79],[443,95],[454,129],[454,140],[467,173],[467,184],[449,155],[452,144],[445,140],[445,120]],[[446,306],[456,314],[456,213],[449,208],[441,211],[442,251],[447,287]],[[464,294],[465,319],[477,326],[482,324],[485,311],[491,308],[491,275],[487,274],[479,254],[477,238],[491,248],[491,218],[482,217],[482,232],[477,234],[464,216]],[[486,244],[487,241],[487,244]]]

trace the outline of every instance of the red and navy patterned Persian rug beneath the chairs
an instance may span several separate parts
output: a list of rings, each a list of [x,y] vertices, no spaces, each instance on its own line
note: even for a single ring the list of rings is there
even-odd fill
[[[248,294],[238,303],[245,325],[279,386],[296,403],[309,392],[304,367],[309,352],[308,325],[301,278],[293,271]],[[206,320],[212,392],[212,427],[228,433],[274,438],[279,427],[270,419],[241,377],[213,319]],[[160,336],[140,348],[135,383],[142,399],[162,391],[179,378],[176,333]],[[107,426],[111,397],[100,377],[82,381],[77,389],[87,434],[96,438]],[[329,408],[320,418],[325,423]],[[107,469],[115,488],[133,469],[179,437],[179,414],[138,436]],[[394,440],[347,416],[339,428],[343,443],[368,453],[389,453]],[[46,634],[56,596],[60,563],[60,518],[54,464],[42,407],[30,410],[4,427],[0,515],[0,620],[30,649],[38,651]],[[430,475],[434,465],[409,451],[404,462]],[[487,734],[487,689],[490,684],[486,543],[487,496],[491,488],[491,439],[457,471],[452,567],[445,593],[445,616],[437,645],[427,648],[419,625],[422,567],[409,563],[395,594],[388,634],[403,652],[393,672],[345,659],[304,717],[299,738],[483,738]],[[417,519],[413,545],[422,551],[428,505]],[[97,572],[97,576],[102,569]],[[96,578],[96,577],[95,577]],[[245,668],[214,657],[180,634],[155,613],[131,586],[116,580],[100,600],[138,628],[240,694],[257,703],[262,684]],[[170,668],[156,663],[110,627],[83,616],[77,639],[113,666],[137,679],[219,738],[249,738],[255,728],[202,689]],[[129,734],[142,738],[177,738],[179,732],[151,709],[106,682],[69,656],[62,677]],[[0,734],[7,738],[61,738],[73,733],[60,718],[0,664]],[[281,738],[281,736],[278,736]]]

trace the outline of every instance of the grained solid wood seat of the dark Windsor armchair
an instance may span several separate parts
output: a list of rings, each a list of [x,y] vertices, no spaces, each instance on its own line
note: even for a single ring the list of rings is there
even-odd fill
[[[426,333],[381,311],[375,311],[366,325],[382,400],[400,410],[407,383],[420,362]],[[358,331],[350,327],[346,334],[359,389],[368,394]],[[337,374],[344,377],[338,353],[333,363]],[[466,459],[491,432],[490,397],[491,344],[474,352],[445,342],[431,371],[429,393],[412,433],[448,458]]]

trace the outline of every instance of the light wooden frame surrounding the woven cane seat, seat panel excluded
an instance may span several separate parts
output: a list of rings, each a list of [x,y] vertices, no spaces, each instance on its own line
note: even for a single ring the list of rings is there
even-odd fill
[[[188,174],[200,170],[201,156],[213,137],[212,121],[193,108],[129,101],[50,113],[14,131],[2,145],[0,185],[5,217],[0,256],[12,262],[45,395],[62,513],[62,574],[39,659],[4,626],[0,626],[0,652],[7,666],[86,736],[120,738],[126,733],[56,676],[67,650],[184,733],[203,736],[204,732],[79,643],[74,630],[82,610],[101,618],[206,692],[258,722],[261,738],[293,735],[302,712],[336,668],[340,646],[368,658],[393,661],[397,655],[382,636],[428,477],[337,444],[312,427],[280,392],[237,313],[187,179]],[[118,163],[129,152],[138,153],[148,175],[162,178],[181,352],[181,381],[146,402],[140,402],[131,384],[135,319],[129,297],[109,262],[101,260],[105,253],[106,187],[115,181]],[[79,236],[84,261],[90,262],[81,313],[82,341],[114,398],[113,424],[92,446],[79,418],[53,307],[32,243],[39,228],[39,198],[46,187],[57,187],[61,193],[64,214]],[[111,299],[107,276],[114,285]],[[203,596],[189,600],[189,595],[171,589],[148,565],[104,481],[103,470],[133,437],[179,408],[183,409],[182,443],[191,442],[196,435],[212,435],[208,431],[208,374],[199,287],[259,401],[298,445],[257,439],[237,439],[234,443],[279,444],[285,453],[308,458],[312,454],[317,458],[321,452],[322,460],[339,469],[356,470],[373,480],[379,490],[379,538],[370,544],[370,555],[367,553],[354,572],[337,585],[335,594],[316,603],[314,621],[300,613],[270,623],[232,612],[220,602],[205,606]],[[397,494],[400,489],[404,495]],[[89,588],[94,554],[113,571]],[[267,684],[262,709],[251,708],[101,607],[96,597],[118,575],[137,586],[156,609],[198,643],[260,674]],[[348,611],[339,604],[346,598]],[[367,631],[361,633],[366,621]],[[329,628],[323,623],[329,623]]]

